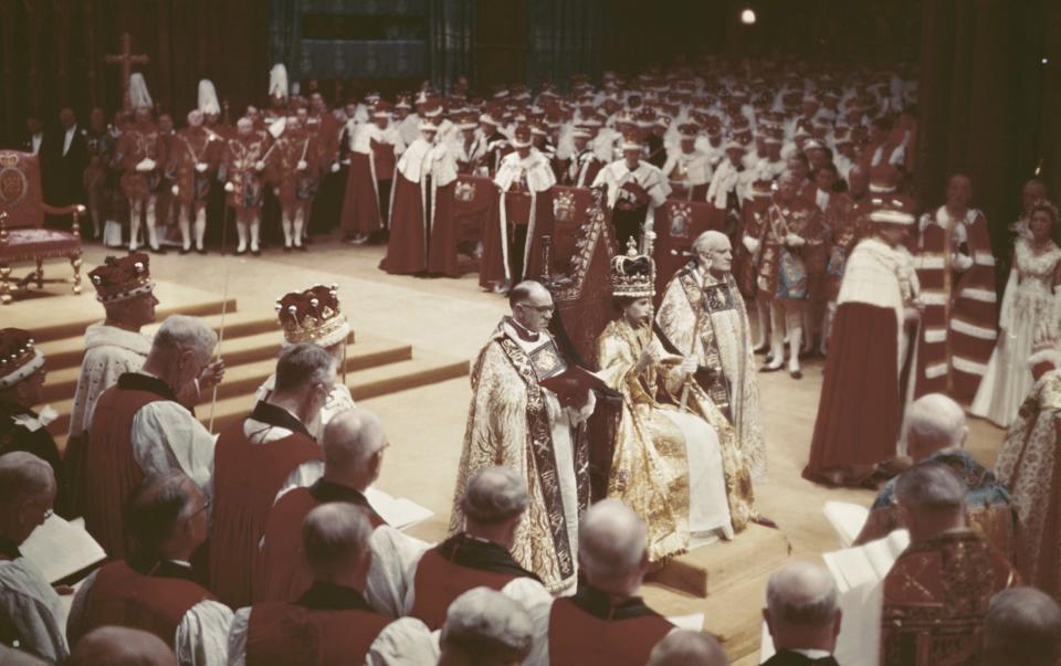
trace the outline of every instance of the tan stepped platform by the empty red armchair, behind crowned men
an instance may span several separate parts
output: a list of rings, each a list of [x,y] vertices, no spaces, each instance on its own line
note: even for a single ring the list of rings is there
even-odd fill
[[[169,282],[158,282],[155,293],[160,302],[158,324],[145,327],[148,335],[157,330],[167,316],[177,313],[202,317],[219,331],[221,311],[225,309],[221,346],[225,378],[218,388],[217,403],[204,401],[197,414],[203,423],[209,423],[212,414],[216,432],[245,416],[254,406],[254,392],[272,374],[282,346],[283,336],[273,313],[241,311],[234,298],[224,305],[209,292]],[[48,359],[44,401],[59,412],[59,417],[49,424],[49,432],[60,448],[64,448],[84,355],[84,330],[102,319],[103,308],[91,294],[38,292],[0,311],[6,315],[6,325],[32,331]],[[358,336],[355,341],[354,334],[347,342],[345,381],[355,400],[445,381],[469,372],[466,360],[420,352],[405,342],[374,336]]]

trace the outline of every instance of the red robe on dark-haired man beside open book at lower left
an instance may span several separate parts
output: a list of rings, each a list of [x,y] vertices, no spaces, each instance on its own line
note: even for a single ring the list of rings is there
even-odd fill
[[[171,646],[185,614],[200,601],[213,600],[209,590],[189,580],[189,573],[168,562],[104,564],[88,591],[85,633],[107,625],[127,626],[155,634]]]

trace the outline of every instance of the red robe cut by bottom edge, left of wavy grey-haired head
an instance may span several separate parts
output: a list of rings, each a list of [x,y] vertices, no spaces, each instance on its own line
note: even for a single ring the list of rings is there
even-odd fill
[[[246,666],[364,664],[390,619],[355,590],[315,583],[297,603],[251,607]]]

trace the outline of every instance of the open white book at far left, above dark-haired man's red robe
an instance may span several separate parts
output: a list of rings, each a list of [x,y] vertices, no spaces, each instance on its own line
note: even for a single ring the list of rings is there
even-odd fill
[[[85,531],[83,519],[66,521],[54,514],[19,550],[52,584],[77,581],[107,559],[103,547]]]

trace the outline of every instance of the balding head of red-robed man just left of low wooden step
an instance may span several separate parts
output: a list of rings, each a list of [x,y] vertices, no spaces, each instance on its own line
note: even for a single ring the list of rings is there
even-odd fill
[[[579,526],[578,561],[591,584],[633,595],[648,562],[644,521],[618,499],[598,501]]]

